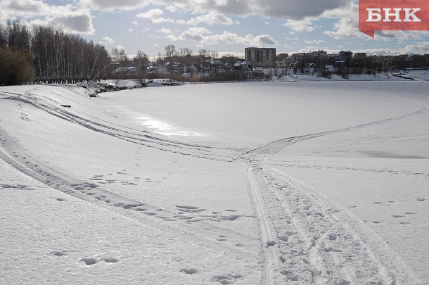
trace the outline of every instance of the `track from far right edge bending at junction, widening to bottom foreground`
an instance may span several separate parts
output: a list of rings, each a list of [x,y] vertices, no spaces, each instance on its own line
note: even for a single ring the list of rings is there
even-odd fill
[[[274,277],[274,272],[280,271],[286,277],[284,281],[302,281],[306,284],[423,284],[383,239],[373,237],[371,229],[356,217],[352,218],[347,209],[340,208],[318,191],[309,191],[304,184],[297,186],[292,177],[264,163],[267,156],[300,141],[397,122],[428,110],[417,101],[413,103],[418,104],[418,110],[413,113],[354,127],[280,139],[234,157],[250,165],[250,185],[255,184],[255,180],[264,180],[263,188],[269,189],[261,191],[261,187],[251,187],[252,195],[259,196],[254,199],[255,208],[267,206],[266,211],[257,210],[261,212],[258,215],[269,215],[278,236],[276,243],[279,251],[264,251],[267,260],[265,270],[271,270],[265,274],[266,277]],[[388,126],[387,131],[392,127]],[[260,220],[260,227],[264,241],[269,227],[264,220]],[[285,232],[287,229],[288,232]],[[276,253],[279,256],[275,256]],[[275,265],[276,262],[270,261],[270,258],[279,258],[283,265]],[[269,283],[269,280],[265,282]]]

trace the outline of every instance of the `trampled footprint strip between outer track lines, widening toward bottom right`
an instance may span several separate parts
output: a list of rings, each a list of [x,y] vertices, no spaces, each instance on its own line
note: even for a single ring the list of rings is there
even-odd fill
[[[263,167],[254,167],[277,239],[278,272],[286,281],[306,284],[382,282],[366,246],[326,208],[294,184]],[[361,279],[366,276],[369,279]]]

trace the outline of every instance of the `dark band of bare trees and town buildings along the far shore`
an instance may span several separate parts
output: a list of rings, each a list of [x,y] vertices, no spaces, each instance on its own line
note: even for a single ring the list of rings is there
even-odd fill
[[[150,57],[143,51],[129,56],[124,49],[109,54],[100,43],[87,41],[51,26],[28,30],[20,22],[0,25],[0,85],[73,83],[106,79],[169,79],[176,82],[269,80],[283,75],[400,74],[429,68],[429,54],[391,56],[318,50],[277,53],[276,48],[245,48],[243,56],[169,44]]]

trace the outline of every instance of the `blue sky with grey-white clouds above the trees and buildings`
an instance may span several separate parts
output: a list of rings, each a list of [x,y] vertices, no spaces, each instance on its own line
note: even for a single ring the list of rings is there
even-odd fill
[[[156,4],[153,4],[156,3]],[[165,46],[243,56],[247,46],[296,53],[324,49],[429,53],[429,32],[359,32],[357,1],[346,0],[1,0],[0,21],[52,24],[149,56]]]

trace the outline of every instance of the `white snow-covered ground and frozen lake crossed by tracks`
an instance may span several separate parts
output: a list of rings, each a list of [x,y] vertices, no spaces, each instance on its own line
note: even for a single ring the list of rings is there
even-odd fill
[[[425,284],[428,87],[1,87],[0,283]]]

